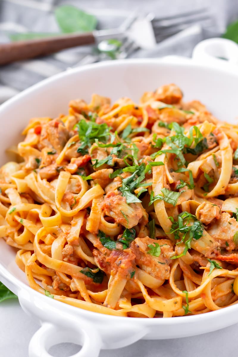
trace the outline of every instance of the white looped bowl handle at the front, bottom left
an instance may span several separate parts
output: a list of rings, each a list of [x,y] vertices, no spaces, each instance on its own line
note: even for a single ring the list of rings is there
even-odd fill
[[[29,357],[52,357],[49,352],[51,346],[58,343],[71,342],[82,345],[74,357],[98,357],[102,341],[92,325],[88,326],[85,321],[72,323],[72,329],[55,326],[44,322],[31,338],[29,344]],[[70,356],[69,356],[70,357]]]

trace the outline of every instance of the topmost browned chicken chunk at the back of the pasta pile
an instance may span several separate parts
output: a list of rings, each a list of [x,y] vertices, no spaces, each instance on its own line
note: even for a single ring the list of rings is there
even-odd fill
[[[181,101],[183,93],[175,84],[168,84],[161,87],[155,92],[155,100],[159,100],[166,104],[177,104]]]

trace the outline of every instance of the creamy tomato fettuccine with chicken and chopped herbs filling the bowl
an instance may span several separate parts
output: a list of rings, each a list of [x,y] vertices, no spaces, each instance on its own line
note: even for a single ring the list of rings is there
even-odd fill
[[[238,302],[238,126],[174,84],[33,118],[0,169],[0,237],[29,285],[85,310],[176,317]]]

